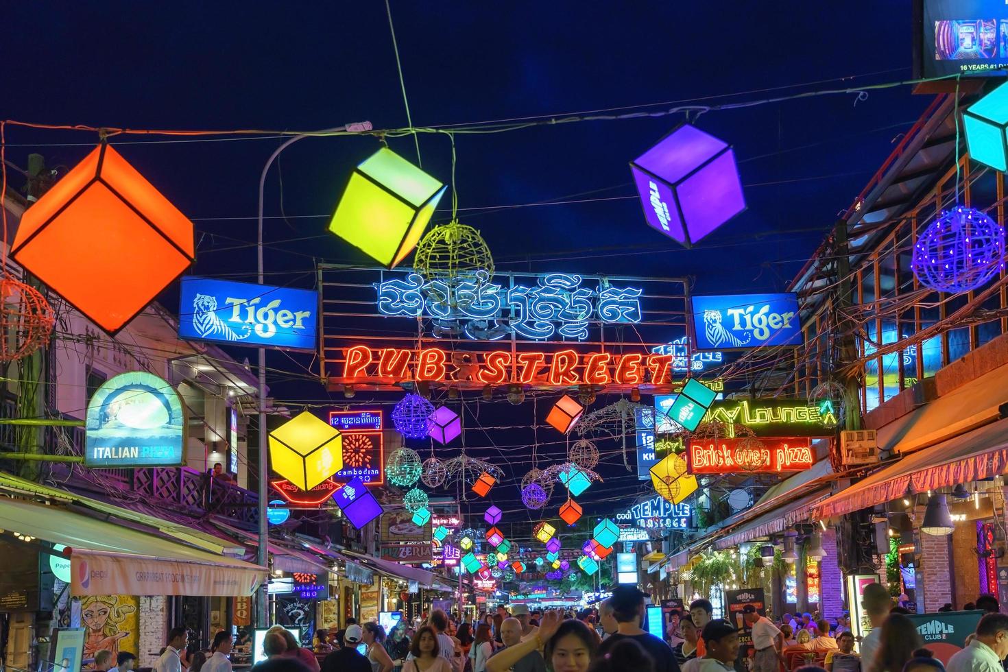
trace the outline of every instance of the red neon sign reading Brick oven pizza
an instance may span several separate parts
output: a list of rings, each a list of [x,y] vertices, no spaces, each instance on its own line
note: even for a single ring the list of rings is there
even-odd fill
[[[686,450],[689,474],[801,472],[813,463],[807,438],[695,439]]]

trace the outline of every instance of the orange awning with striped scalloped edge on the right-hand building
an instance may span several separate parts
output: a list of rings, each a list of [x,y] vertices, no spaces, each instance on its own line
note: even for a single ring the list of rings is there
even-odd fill
[[[1004,474],[1008,468],[1008,419],[974,429],[852,484],[816,506],[814,518],[840,516],[903,497]]]

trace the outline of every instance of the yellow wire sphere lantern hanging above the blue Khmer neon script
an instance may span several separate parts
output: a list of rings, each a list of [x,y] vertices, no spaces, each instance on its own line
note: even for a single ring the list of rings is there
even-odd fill
[[[427,282],[479,281],[477,271],[486,271],[484,281],[494,275],[494,258],[486,241],[479,231],[458,220],[427,232],[416,246],[413,266]]]

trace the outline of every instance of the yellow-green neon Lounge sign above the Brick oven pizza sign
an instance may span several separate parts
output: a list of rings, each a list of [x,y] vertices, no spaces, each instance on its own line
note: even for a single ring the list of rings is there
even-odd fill
[[[837,411],[829,399],[716,401],[705,419],[742,424],[757,436],[833,436],[837,431]]]

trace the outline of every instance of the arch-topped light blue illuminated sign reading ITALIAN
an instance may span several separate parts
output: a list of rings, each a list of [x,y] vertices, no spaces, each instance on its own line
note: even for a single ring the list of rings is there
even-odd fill
[[[88,402],[84,463],[91,467],[180,466],[185,413],[167,382],[135,371],[102,383]]]

